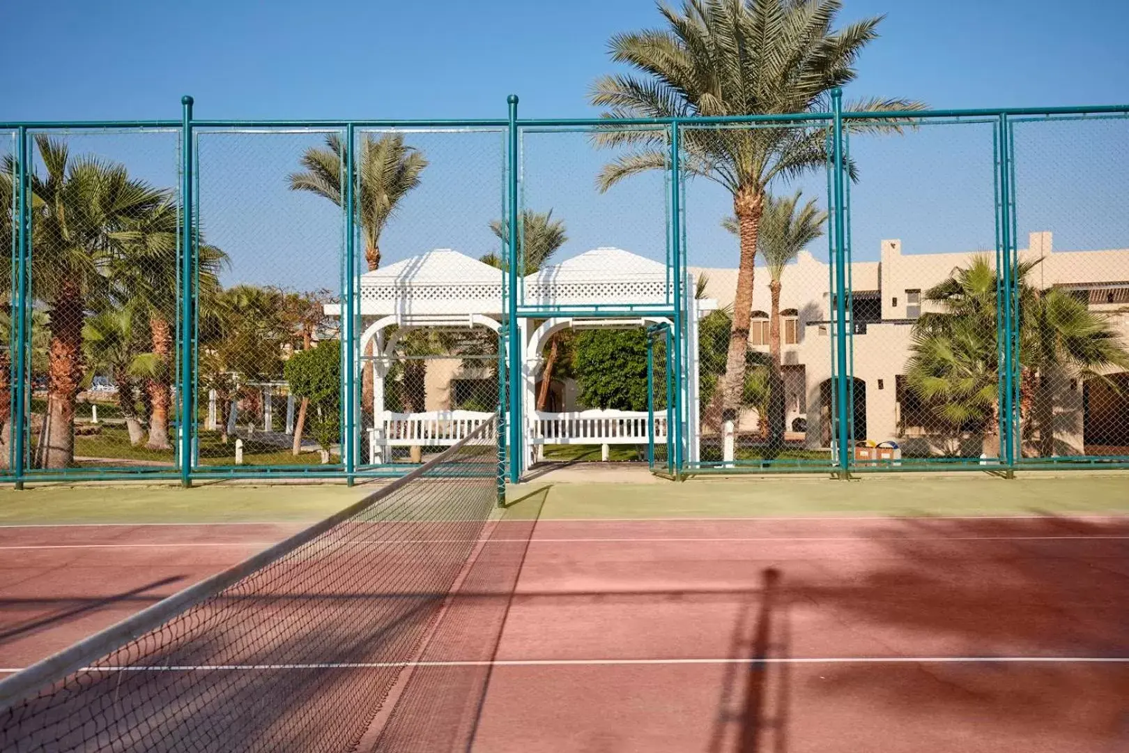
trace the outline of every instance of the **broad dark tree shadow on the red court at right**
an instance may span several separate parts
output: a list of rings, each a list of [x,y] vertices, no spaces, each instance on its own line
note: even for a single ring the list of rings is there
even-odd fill
[[[878,657],[970,659],[790,667],[793,694],[808,713],[829,715],[809,717],[825,733],[806,733],[800,747],[813,750],[816,736],[826,738],[820,750],[858,750],[877,742],[864,729],[889,726],[902,738],[924,733],[921,750],[1014,750],[1019,741],[1129,750],[1127,665],[971,660],[1129,657],[1127,536],[1129,520],[1118,519],[892,519],[873,532],[876,551],[864,560],[828,554],[819,570],[789,573],[771,601],[822,615],[808,628],[817,630],[811,655],[860,656],[857,647],[869,645]],[[761,697],[750,683],[746,700]],[[759,747],[764,727],[750,716],[752,746],[729,750],[784,750]]]

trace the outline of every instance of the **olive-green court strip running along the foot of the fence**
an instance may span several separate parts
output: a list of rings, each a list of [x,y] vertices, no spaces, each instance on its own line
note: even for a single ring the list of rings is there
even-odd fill
[[[636,476],[638,478],[638,476]],[[646,478],[646,476],[644,476]],[[316,520],[376,484],[42,485],[0,489],[0,525]],[[554,482],[509,490],[513,511],[543,518],[758,517],[804,515],[1129,514],[1129,473],[730,478],[685,482]],[[520,500],[532,505],[515,505]]]

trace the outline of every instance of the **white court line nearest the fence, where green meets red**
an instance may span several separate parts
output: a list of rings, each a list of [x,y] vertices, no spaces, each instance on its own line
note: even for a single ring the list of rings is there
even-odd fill
[[[787,520],[789,523],[804,523],[807,520],[1123,520],[1129,519],[1129,510],[1124,513],[1110,514],[1087,514],[1077,515],[879,515],[877,513],[860,511],[859,515],[781,515],[781,516],[742,516],[742,517],[714,517],[714,516],[680,516],[680,517],[656,517],[656,518],[539,518],[539,524],[554,523],[732,523],[747,520],[756,523],[760,520]],[[220,520],[220,522],[184,522],[184,523],[0,523],[0,531],[5,528],[145,528],[184,526],[202,528],[208,526],[273,526],[273,525],[309,525],[316,523],[317,518],[304,520]],[[382,523],[396,523],[384,520]],[[400,520],[399,523],[441,523],[441,520]],[[498,523],[528,523],[528,520],[506,520]]]

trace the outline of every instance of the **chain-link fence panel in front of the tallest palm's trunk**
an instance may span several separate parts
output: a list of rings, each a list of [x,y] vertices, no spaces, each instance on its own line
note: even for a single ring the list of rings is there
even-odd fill
[[[688,125],[681,134],[686,326],[697,332],[686,459],[829,467],[828,126]]]

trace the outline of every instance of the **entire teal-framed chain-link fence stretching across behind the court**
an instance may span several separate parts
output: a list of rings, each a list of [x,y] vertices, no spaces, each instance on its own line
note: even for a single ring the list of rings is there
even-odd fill
[[[17,483],[1129,465],[1115,108],[185,114],[0,129]]]

